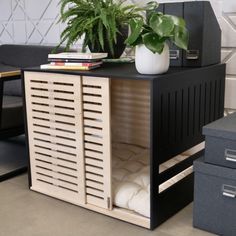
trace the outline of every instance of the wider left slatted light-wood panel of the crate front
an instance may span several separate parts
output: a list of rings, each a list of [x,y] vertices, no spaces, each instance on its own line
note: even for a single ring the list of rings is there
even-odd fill
[[[25,72],[32,189],[84,203],[81,78]]]

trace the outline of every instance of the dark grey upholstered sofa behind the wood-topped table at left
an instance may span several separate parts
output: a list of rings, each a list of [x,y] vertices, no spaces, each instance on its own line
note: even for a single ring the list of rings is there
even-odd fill
[[[53,47],[36,45],[0,45],[0,69],[18,70],[47,62]],[[0,139],[24,133],[20,75],[8,77],[3,84]]]

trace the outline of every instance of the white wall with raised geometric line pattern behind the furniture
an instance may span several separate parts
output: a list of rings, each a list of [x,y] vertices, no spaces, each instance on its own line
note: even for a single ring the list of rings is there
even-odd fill
[[[143,4],[149,0],[129,0]],[[181,0],[161,0],[181,1]],[[210,0],[222,29],[222,61],[227,63],[226,104],[236,108],[236,1]],[[59,0],[0,0],[0,44],[56,45],[62,24]]]

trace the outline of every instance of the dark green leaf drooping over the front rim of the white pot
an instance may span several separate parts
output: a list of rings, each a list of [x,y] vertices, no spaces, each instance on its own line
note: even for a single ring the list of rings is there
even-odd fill
[[[159,54],[163,52],[165,46],[163,40],[155,33],[144,34],[143,43],[150,51]]]

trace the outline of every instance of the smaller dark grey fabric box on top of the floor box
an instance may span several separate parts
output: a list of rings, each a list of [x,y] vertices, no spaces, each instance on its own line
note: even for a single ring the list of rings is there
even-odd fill
[[[236,168],[236,113],[203,127],[205,161]]]

